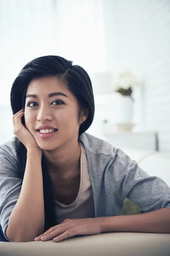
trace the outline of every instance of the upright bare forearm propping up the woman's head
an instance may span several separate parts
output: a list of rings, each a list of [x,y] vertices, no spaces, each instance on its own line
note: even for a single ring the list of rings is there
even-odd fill
[[[17,204],[11,212],[6,236],[11,241],[34,241],[44,229],[42,153],[27,152],[26,170]]]

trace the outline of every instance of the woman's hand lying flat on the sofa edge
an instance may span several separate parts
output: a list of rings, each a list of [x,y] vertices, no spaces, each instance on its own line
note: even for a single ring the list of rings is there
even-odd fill
[[[71,236],[96,235],[103,233],[102,226],[105,217],[66,219],[61,224],[51,227],[34,241],[47,241],[53,239],[54,242],[62,241]],[[45,238],[43,238],[45,236]]]

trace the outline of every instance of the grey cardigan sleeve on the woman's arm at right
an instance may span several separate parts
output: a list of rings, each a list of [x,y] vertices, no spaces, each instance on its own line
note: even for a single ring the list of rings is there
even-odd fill
[[[159,177],[150,176],[121,149],[113,160],[114,180],[119,180],[117,192],[122,200],[128,198],[144,212],[170,207],[170,187]]]

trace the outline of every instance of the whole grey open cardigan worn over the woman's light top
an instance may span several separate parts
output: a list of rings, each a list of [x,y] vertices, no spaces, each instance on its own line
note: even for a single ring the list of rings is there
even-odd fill
[[[121,149],[99,138],[84,133],[79,140],[87,154],[96,217],[121,215],[126,197],[144,212],[170,207],[170,187],[161,178],[148,175]],[[23,182],[18,170],[14,137],[0,146],[0,225],[5,237]]]

